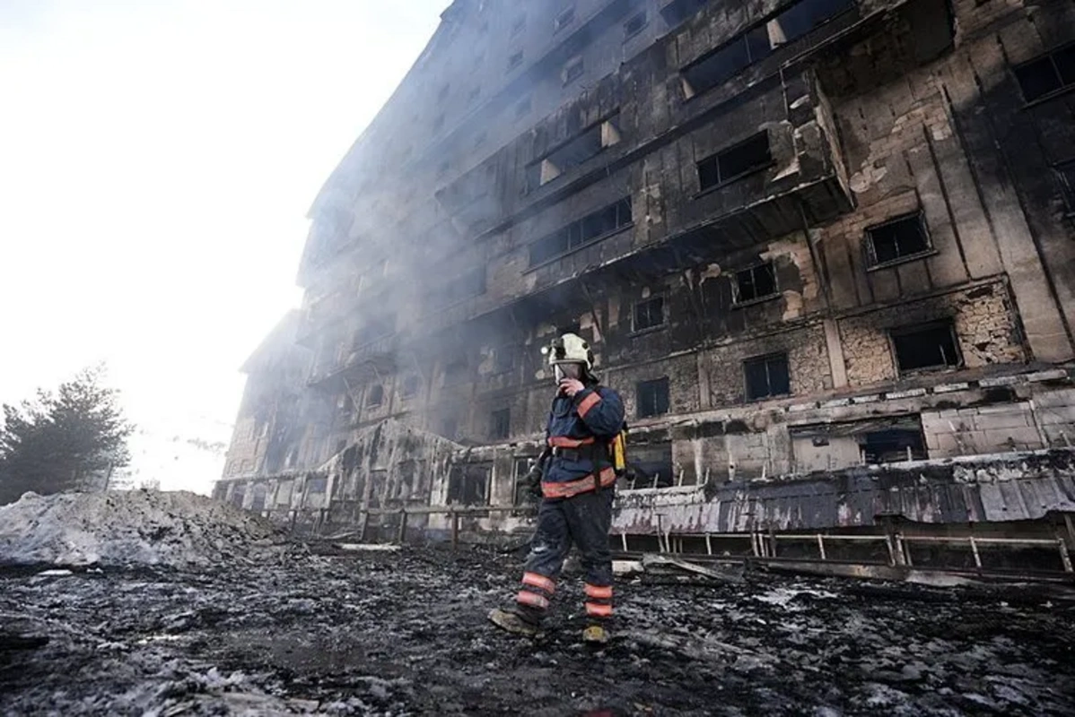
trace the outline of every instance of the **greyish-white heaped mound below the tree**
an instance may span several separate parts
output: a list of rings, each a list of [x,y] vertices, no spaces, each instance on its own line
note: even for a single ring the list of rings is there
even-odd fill
[[[28,493],[0,507],[0,566],[196,567],[281,540],[268,521],[192,493]]]

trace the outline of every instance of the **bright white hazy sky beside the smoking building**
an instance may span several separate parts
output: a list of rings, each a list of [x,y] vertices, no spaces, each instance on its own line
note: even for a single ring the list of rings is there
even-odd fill
[[[0,401],[230,423],[305,213],[449,0],[0,0]]]

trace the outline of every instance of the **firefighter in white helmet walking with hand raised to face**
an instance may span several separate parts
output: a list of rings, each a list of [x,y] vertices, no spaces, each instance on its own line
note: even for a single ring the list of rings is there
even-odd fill
[[[612,554],[608,528],[616,472],[610,445],[624,428],[619,394],[599,385],[593,351],[575,334],[564,334],[548,349],[557,392],[546,428],[547,448],[528,480],[540,485],[538,529],[511,608],[489,613],[510,632],[534,635],[556,591],[563,560],[574,543],[586,571],[587,627],[583,640],[607,641],[612,617]]]

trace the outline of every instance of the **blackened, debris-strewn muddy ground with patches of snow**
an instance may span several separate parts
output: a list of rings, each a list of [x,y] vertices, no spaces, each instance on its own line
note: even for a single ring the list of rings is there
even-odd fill
[[[1075,605],[1055,595],[625,582],[592,653],[577,577],[544,639],[493,631],[517,579],[516,556],[440,548],[9,571],[0,714],[1075,714]]]

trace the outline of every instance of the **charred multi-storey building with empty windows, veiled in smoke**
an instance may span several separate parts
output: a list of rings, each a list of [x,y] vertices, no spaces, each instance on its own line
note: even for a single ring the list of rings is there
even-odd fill
[[[277,386],[307,408],[264,419],[295,459],[219,495],[511,531],[539,347],[571,330],[628,408],[625,545],[1048,539],[1075,510],[1073,89],[1070,2],[456,0],[311,209],[309,365]]]

